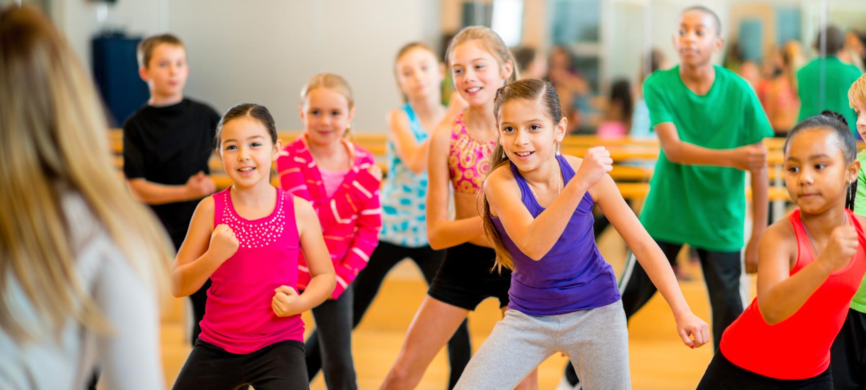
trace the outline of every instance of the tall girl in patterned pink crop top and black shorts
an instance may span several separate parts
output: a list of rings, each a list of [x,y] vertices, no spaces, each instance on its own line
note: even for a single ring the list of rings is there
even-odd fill
[[[485,27],[462,29],[446,55],[457,93],[469,104],[454,121],[443,121],[430,138],[427,238],[433,249],[447,249],[381,389],[416,387],[436,353],[484,299],[496,297],[501,308],[508,305],[511,272],[492,271],[496,253],[484,237],[478,195],[498,142],[494,97],[501,86],[517,79],[514,57],[499,35]],[[449,181],[454,221],[448,216]],[[517,388],[537,387],[533,373]]]

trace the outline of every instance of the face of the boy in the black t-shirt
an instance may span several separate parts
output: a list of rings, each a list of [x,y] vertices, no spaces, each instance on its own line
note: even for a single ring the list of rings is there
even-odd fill
[[[154,95],[161,98],[182,96],[190,68],[186,65],[186,49],[171,43],[160,43],[153,48],[150,62],[139,69]]]

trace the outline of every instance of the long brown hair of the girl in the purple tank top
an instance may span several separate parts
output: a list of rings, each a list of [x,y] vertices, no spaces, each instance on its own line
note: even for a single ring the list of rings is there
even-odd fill
[[[496,91],[493,112],[494,117],[496,118],[497,128],[499,128],[499,113],[502,109],[502,105],[505,105],[509,101],[520,99],[538,101],[544,105],[546,108],[545,114],[553,120],[554,125],[559,124],[559,120],[562,119],[562,105],[559,105],[559,95],[556,93],[556,88],[547,81],[524,79],[507,84]],[[502,148],[502,144],[496,143],[496,148],[494,149],[493,154],[490,155],[490,169],[488,169],[488,176],[493,173],[494,170],[505,165],[509,161],[508,157],[505,157],[505,150]],[[484,224],[484,234],[487,235],[488,241],[493,244],[493,247],[496,250],[496,262],[494,267],[500,272],[502,271],[503,266],[514,271],[514,259],[511,258],[511,253],[508,253],[508,249],[502,241],[502,236],[493,224],[493,219],[490,215],[490,203],[487,200],[487,196],[484,197],[483,203],[484,211],[481,213],[481,220]]]

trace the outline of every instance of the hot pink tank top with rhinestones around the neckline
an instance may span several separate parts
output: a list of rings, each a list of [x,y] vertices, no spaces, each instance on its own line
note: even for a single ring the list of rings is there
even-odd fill
[[[208,289],[199,337],[232,354],[244,355],[275,342],[303,342],[301,315],[281,317],[271,309],[277,287],[288,285],[297,290],[300,245],[294,197],[275,189],[274,211],[248,221],[235,211],[229,190],[212,195],[214,226],[229,225],[240,246],[210,276],[213,284]]]

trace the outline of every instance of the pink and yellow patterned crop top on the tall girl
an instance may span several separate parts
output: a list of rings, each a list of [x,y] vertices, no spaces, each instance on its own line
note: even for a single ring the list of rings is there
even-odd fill
[[[451,130],[448,156],[448,171],[455,192],[475,194],[481,189],[495,147],[495,140],[481,143],[470,136],[463,125],[463,114],[457,117]]]

